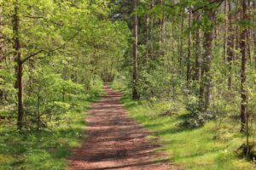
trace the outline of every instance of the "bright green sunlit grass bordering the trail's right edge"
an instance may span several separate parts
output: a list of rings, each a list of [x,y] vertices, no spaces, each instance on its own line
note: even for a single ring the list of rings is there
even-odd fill
[[[238,127],[225,124],[223,139],[214,136],[215,122],[208,122],[204,127],[189,130],[177,126],[179,116],[158,116],[156,111],[132,101],[128,96],[122,99],[123,105],[131,117],[144,127],[150,129],[164,144],[165,150],[172,161],[193,170],[236,170],[256,169],[255,164],[240,159],[235,150],[244,142],[244,136]],[[230,131],[229,129],[235,129]]]

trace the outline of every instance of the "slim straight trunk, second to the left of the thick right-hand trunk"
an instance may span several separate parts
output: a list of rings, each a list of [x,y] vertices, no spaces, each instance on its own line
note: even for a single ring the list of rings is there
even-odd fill
[[[192,8],[189,7],[189,42],[188,42],[188,59],[187,59],[187,82],[189,83],[191,79],[190,75],[190,58],[191,58],[191,17]]]

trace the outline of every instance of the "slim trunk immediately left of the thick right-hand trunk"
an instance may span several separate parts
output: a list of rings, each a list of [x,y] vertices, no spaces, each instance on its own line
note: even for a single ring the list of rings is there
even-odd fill
[[[194,20],[200,20],[200,14],[198,12],[194,13]],[[201,55],[201,48],[200,48],[200,29],[195,30],[195,80],[199,80],[200,78],[200,55]]]

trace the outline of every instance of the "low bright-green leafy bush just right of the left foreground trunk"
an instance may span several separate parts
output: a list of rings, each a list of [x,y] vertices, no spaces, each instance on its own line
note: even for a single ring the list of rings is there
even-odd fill
[[[72,100],[81,93],[84,93],[82,85],[38,69],[26,91],[26,127],[39,129],[47,127],[48,122],[59,120],[60,116],[76,107]]]

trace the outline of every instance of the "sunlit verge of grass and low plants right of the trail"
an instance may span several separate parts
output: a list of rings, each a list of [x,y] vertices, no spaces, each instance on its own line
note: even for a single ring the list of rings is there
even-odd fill
[[[193,170],[256,168],[254,161],[243,159],[241,144],[246,143],[246,138],[240,133],[236,119],[216,118],[202,127],[183,127],[183,117],[189,114],[185,104],[174,106],[174,101],[134,101],[122,82],[114,82],[113,88],[124,92],[121,102],[129,115],[153,133],[149,139],[160,139],[160,151],[164,151],[171,161]]]

